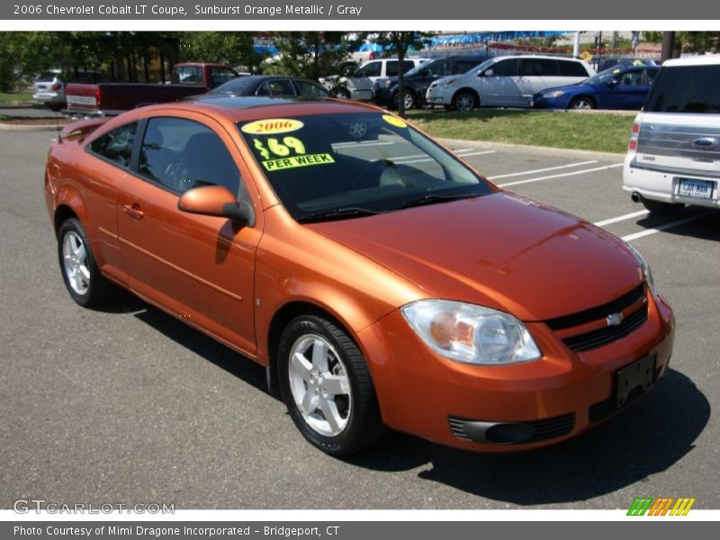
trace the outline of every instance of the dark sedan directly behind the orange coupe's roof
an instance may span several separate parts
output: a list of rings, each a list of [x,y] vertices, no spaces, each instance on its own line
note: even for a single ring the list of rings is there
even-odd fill
[[[207,94],[193,96],[191,99],[207,99],[228,95],[329,97],[330,93],[324,86],[297,76],[252,75],[238,77],[224,85],[213,88]]]

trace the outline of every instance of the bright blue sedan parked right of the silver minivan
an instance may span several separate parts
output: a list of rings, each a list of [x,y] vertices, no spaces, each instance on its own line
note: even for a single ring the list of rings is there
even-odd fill
[[[610,67],[575,85],[547,88],[533,96],[536,109],[636,109],[660,66]]]

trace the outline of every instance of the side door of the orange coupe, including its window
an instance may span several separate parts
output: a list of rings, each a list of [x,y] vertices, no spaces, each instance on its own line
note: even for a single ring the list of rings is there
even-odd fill
[[[191,325],[254,354],[254,227],[177,209],[182,193],[218,184],[254,203],[234,142],[187,113],[144,121],[134,174],[118,196],[118,233],[130,289]]]

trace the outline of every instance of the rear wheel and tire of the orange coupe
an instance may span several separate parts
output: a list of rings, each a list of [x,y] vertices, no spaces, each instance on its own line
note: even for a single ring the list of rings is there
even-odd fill
[[[85,229],[75,218],[58,229],[58,261],[70,297],[85,308],[106,302],[114,286],[100,273]]]

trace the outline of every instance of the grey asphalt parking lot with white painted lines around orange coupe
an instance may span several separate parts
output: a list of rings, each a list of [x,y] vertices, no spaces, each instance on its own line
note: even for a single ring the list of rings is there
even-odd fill
[[[644,253],[678,321],[671,371],[626,413],[536,452],[392,434],[340,461],[304,441],[262,367],[131,297],[103,311],[71,301],[42,198],[53,136],[0,132],[0,508],[627,509],[671,496],[720,509],[720,211],[649,217],[620,188],[621,157],[458,145],[497,184]]]

